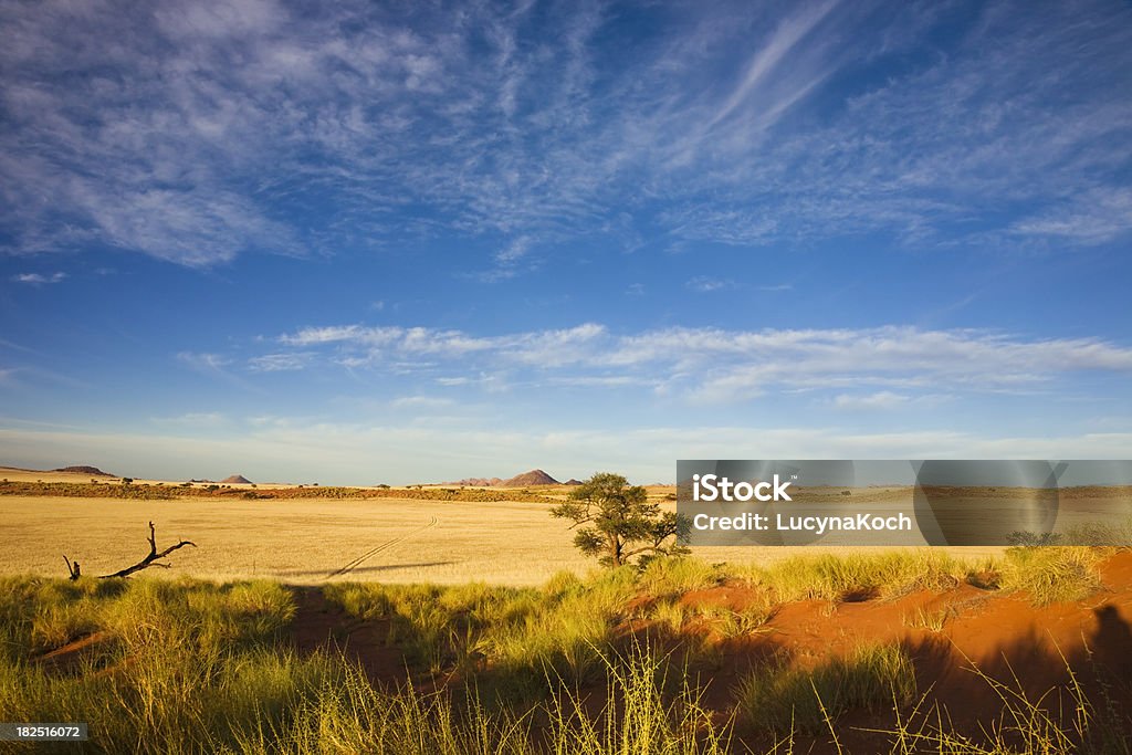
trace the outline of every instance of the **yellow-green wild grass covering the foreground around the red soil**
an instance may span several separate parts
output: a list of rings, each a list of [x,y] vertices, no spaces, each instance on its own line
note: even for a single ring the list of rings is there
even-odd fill
[[[747,652],[797,606],[820,617],[957,585],[1031,606],[1095,595],[1106,555],[657,558],[528,589],[7,577],[0,720],[86,721],[86,749],[106,753],[1122,753],[1124,693],[1090,692],[1069,658],[1056,705],[976,669],[998,710],[971,731],[906,642]],[[712,591],[744,601],[689,600]],[[333,627],[337,645],[298,642],[311,606],[370,628],[385,666]]]

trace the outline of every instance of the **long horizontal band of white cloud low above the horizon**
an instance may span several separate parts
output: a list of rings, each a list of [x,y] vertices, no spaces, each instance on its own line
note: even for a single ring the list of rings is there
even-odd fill
[[[941,389],[1034,389],[1084,372],[1132,372],[1132,348],[1101,338],[1026,338],[975,329],[915,327],[766,329],[671,327],[616,334],[573,328],[472,335],[431,328],[310,327],[278,343],[307,349],[312,362],[430,375],[447,387],[509,369],[513,379],[591,388],[651,386],[705,402],[766,392],[842,391],[842,409],[880,409]],[[312,349],[312,346],[321,346]],[[284,352],[285,353],[285,352]],[[274,355],[273,355],[274,357]],[[844,393],[867,388],[874,393]],[[897,391],[901,391],[897,393]]]

